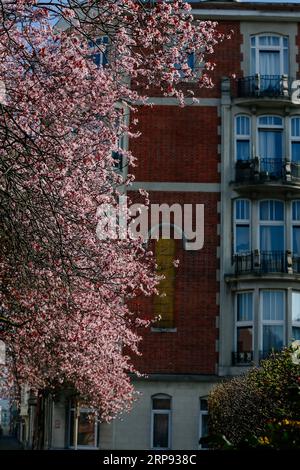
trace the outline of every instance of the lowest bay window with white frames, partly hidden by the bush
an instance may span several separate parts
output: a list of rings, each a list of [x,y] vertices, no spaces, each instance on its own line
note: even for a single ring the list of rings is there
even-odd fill
[[[234,304],[233,364],[256,362],[300,340],[300,290],[256,287],[236,292]]]

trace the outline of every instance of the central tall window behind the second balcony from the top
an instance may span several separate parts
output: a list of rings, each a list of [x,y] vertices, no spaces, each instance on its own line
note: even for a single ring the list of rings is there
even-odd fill
[[[258,118],[260,172],[280,177],[283,168],[283,122],[279,116]]]

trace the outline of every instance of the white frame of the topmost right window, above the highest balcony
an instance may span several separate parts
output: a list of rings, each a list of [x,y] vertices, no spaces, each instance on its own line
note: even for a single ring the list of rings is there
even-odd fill
[[[259,38],[261,37],[276,37],[279,38],[279,46],[261,46],[259,44]],[[255,45],[252,45],[252,39],[254,38],[255,40]],[[288,40],[288,46],[286,47],[284,45],[284,39]],[[255,64],[252,63],[252,51],[253,49],[255,50]],[[279,75],[284,75],[287,74],[289,75],[289,70],[290,70],[290,61],[289,61],[289,37],[288,36],[283,36],[280,34],[274,34],[274,33],[261,33],[261,34],[253,34],[250,36],[250,69],[251,73],[250,75],[255,75],[260,73],[259,71],[259,53],[260,51],[275,51],[279,52],[279,57],[280,57],[280,73]],[[288,56],[288,71],[284,72],[284,51],[287,50],[287,56]],[[271,75],[271,74],[269,74]]]

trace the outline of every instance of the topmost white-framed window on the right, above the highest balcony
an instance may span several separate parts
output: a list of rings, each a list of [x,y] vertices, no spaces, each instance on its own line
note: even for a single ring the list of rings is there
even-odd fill
[[[289,42],[286,36],[251,36],[251,74],[279,76],[289,73]],[[270,77],[271,78],[271,77]],[[267,77],[264,87],[270,86]]]

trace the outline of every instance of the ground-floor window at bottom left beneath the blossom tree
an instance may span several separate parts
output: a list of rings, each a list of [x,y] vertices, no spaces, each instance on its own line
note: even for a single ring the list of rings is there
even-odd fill
[[[75,446],[75,420],[76,409],[71,404],[69,415],[69,442],[70,447]],[[79,409],[77,446],[79,448],[95,448],[98,446],[98,420],[94,412],[88,408]]]

